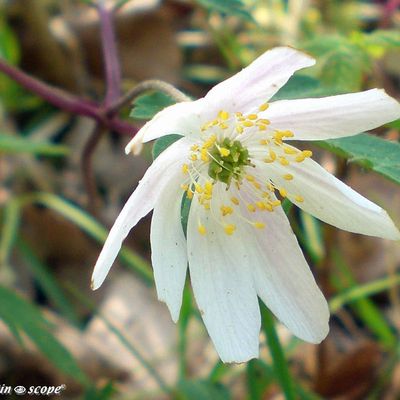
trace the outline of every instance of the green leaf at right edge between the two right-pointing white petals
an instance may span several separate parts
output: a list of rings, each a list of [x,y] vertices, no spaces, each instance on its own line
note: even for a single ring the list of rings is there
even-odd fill
[[[400,143],[398,142],[362,133],[314,143],[400,184]]]

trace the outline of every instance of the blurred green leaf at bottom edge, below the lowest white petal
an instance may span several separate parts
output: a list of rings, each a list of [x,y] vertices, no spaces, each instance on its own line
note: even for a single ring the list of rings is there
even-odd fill
[[[229,400],[229,390],[219,383],[209,381],[180,381],[177,386],[180,400]]]

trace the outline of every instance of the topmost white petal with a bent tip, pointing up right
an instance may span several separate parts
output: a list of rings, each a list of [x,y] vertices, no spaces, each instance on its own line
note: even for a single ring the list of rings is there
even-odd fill
[[[205,100],[219,110],[251,112],[268,101],[297,70],[314,64],[305,53],[276,47],[212,88]]]

